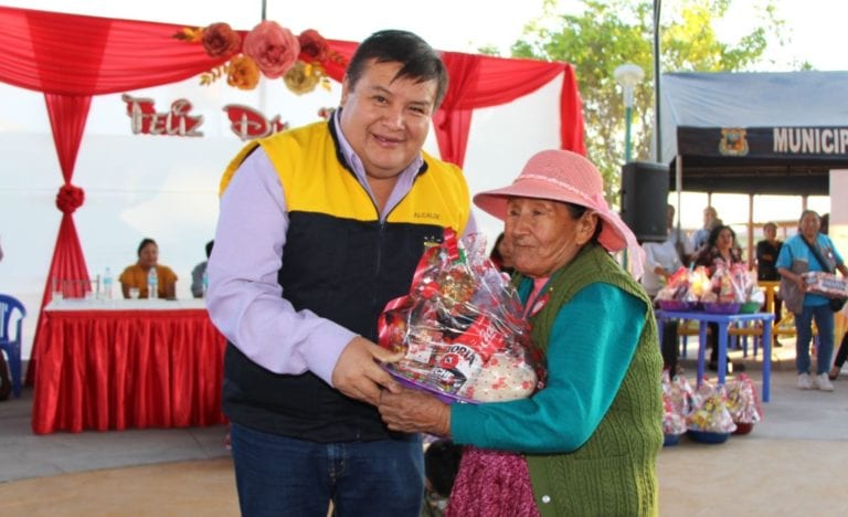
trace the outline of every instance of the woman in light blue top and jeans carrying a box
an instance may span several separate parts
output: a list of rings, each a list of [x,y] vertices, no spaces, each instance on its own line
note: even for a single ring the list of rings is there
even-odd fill
[[[839,252],[830,238],[820,232],[822,220],[813,210],[805,210],[798,221],[798,233],[786,240],[777,255],[777,273],[781,274],[781,296],[786,308],[795,315],[795,368],[798,388],[834,391],[827,377],[834,352],[834,312],[826,297],[807,293],[804,273],[838,270],[848,276]],[[809,341],[813,338],[813,319],[818,328],[815,383],[809,378]]]

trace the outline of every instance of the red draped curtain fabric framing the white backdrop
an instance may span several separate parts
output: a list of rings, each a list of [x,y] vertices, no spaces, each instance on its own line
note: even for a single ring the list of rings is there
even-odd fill
[[[42,299],[43,310],[52,291],[52,277],[88,277],[72,217],[82,205],[84,194],[71,180],[91,97],[182,81],[226,60],[210,57],[202,45],[176,40],[173,34],[182,29],[176,24],[0,7],[0,81],[45,94],[64,178],[56,196],[62,223]],[[358,45],[328,41],[346,59]],[[571,65],[456,52],[445,52],[443,57],[451,84],[434,123],[444,159],[463,163],[474,109],[509,103],[559,75],[561,147],[585,154],[581,103]],[[340,82],[344,70],[330,64],[327,73]],[[41,319],[41,312],[39,316]],[[36,330],[33,360],[39,339]]]

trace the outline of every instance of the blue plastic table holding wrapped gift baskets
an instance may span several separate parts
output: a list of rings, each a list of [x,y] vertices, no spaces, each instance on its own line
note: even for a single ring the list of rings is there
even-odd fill
[[[724,383],[728,370],[728,328],[731,324],[741,321],[761,321],[763,326],[763,402],[768,402],[771,390],[768,383],[772,377],[772,313],[753,314],[714,314],[703,312],[672,312],[657,310],[659,328],[667,319],[692,319],[699,321],[698,335],[698,386],[703,381],[703,366],[707,350],[707,324],[714,323],[719,326],[719,383]],[[660,333],[660,339],[661,338]]]

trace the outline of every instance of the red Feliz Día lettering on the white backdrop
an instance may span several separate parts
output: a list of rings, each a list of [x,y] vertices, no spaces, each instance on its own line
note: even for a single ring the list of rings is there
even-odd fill
[[[188,99],[177,99],[168,112],[157,113],[153,99],[127,94],[121,98],[127,105],[134,135],[203,136],[199,130],[203,116],[190,115],[192,106]],[[230,129],[242,140],[262,138],[288,128],[288,123],[282,122],[279,115],[268,119],[261,112],[237,104],[226,105],[223,109],[230,119]],[[318,115],[328,118],[330,113],[330,109],[322,108]]]

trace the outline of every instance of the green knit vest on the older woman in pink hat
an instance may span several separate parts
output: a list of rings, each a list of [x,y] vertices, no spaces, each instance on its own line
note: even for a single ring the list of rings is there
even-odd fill
[[[527,455],[533,495],[542,516],[658,515],[662,360],[645,291],[601,246],[590,244],[551,279],[550,300],[530,320],[532,339],[547,352],[560,307],[596,282],[639,298],[645,304],[645,327],[618,394],[589,441],[571,453]]]

